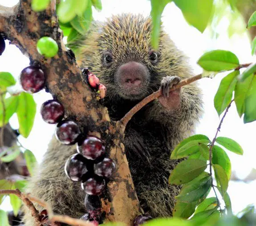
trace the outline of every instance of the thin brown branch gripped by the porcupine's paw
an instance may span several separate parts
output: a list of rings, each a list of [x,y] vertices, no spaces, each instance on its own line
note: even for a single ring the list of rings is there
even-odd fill
[[[184,79],[183,81],[180,81],[177,85],[174,85],[169,92],[175,90],[175,89],[179,89],[184,85],[188,85],[191,82],[194,82],[196,80],[199,80],[202,78],[202,74],[196,75],[194,77],[191,78],[187,78]],[[123,128],[125,129],[126,124],[128,123],[128,121],[130,121],[131,117],[134,116],[135,113],[137,113],[140,109],[142,109],[143,106],[145,106],[146,104],[148,104],[150,101],[153,101],[154,99],[160,97],[162,95],[161,91],[158,90],[154,93],[152,93],[151,95],[145,97],[142,101],[140,101],[137,105],[135,105],[132,109],[130,109],[130,111],[128,113],[126,113],[126,115],[120,120],[121,125],[123,125]]]

